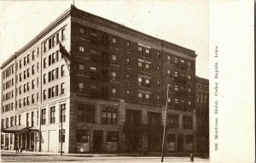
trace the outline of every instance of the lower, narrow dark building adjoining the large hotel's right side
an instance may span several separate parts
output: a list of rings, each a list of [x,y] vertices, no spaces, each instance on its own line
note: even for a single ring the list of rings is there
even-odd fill
[[[197,151],[209,153],[209,80],[196,76]]]

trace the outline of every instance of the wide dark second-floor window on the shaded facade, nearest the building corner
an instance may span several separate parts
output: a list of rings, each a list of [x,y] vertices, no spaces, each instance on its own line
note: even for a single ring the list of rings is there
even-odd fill
[[[95,106],[90,104],[79,104],[78,106],[78,121],[94,123]]]

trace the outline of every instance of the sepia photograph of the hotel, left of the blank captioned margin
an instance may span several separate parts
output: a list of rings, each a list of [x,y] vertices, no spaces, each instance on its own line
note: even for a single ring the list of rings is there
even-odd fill
[[[1,161],[210,162],[208,1],[0,10]]]

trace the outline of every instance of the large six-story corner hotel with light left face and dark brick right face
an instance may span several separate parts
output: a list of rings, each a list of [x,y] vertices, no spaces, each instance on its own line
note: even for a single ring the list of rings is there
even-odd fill
[[[195,58],[72,5],[1,67],[2,148],[160,151],[168,104],[166,151],[195,150]]]

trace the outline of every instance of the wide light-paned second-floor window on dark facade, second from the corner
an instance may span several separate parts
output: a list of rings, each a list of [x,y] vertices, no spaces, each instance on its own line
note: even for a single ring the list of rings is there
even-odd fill
[[[102,124],[117,123],[117,109],[111,107],[102,107]]]

